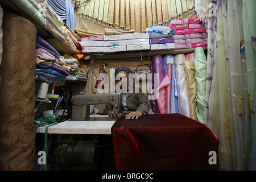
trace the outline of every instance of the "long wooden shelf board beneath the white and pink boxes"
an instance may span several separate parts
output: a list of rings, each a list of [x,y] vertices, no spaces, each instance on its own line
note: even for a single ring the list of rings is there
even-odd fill
[[[191,53],[195,52],[196,48],[189,49],[168,49],[163,51],[123,51],[123,52],[112,52],[112,53],[91,53],[95,60],[104,60],[104,59],[126,59],[133,57],[141,57],[141,52],[144,56],[155,56],[155,55],[176,55],[178,53]],[[204,50],[207,50],[207,47],[203,47]]]

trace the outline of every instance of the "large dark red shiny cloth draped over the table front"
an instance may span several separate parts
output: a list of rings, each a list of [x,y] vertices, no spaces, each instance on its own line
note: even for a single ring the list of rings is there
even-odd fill
[[[118,171],[219,169],[220,140],[206,125],[181,114],[121,117],[112,127],[112,137]],[[216,152],[217,164],[209,164],[210,151]]]

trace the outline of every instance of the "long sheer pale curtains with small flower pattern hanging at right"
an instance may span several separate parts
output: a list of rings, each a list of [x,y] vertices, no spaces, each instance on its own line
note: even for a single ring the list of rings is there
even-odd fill
[[[242,0],[217,1],[214,67],[208,67],[207,71],[212,72],[213,77],[205,124],[220,139],[222,170],[253,169],[253,160],[250,158],[255,158],[255,146],[252,147],[251,142],[253,134],[255,143],[255,115],[251,114],[255,105],[252,98],[255,93],[255,84],[252,80],[253,76],[255,78],[255,54],[254,45],[249,44],[247,39],[255,36],[251,35],[255,34],[255,30],[250,27],[245,29],[250,22],[242,16],[253,15],[253,10],[247,12],[248,7],[255,7],[253,3],[255,2]],[[255,18],[255,15],[251,17]],[[211,42],[209,38],[208,42]],[[212,47],[212,44],[209,44],[208,52],[212,51],[209,50]]]

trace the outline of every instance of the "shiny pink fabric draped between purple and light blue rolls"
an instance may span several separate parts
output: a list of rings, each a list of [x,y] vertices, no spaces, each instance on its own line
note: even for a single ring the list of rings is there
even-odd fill
[[[167,74],[158,87],[158,107],[161,114],[170,114],[171,110],[171,79],[172,67],[168,64]]]

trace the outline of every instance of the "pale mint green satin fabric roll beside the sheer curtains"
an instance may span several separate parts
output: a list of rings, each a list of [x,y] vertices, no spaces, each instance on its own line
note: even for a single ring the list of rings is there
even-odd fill
[[[194,58],[196,80],[196,115],[197,120],[204,123],[205,89],[207,78],[207,58],[202,47],[195,49]]]

